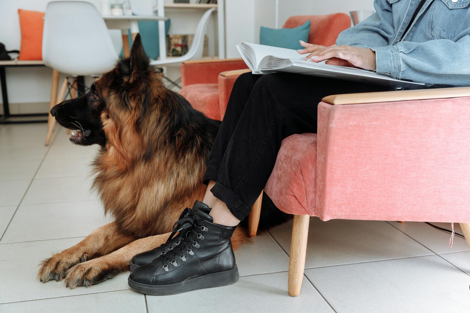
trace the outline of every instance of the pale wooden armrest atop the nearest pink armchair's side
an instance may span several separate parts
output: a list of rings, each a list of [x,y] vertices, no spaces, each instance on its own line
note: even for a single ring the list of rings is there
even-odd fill
[[[394,92],[345,93],[327,96],[321,100],[330,104],[343,105],[459,97],[470,97],[470,87],[403,90]]]

